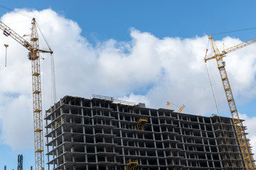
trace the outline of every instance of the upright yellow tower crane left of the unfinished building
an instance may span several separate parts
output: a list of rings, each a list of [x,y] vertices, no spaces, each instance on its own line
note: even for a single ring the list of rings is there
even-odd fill
[[[44,169],[43,154],[43,114],[42,114],[42,97],[41,97],[41,71],[40,71],[40,52],[49,52],[52,50],[42,50],[39,48],[38,32],[36,28],[36,19],[32,19],[31,39],[30,42],[11,30],[8,26],[0,21],[0,29],[4,30],[4,35],[14,38],[18,43],[26,47],[28,59],[31,60],[32,66],[32,88],[33,88],[33,125],[34,125],[34,143],[35,143],[35,169]]]

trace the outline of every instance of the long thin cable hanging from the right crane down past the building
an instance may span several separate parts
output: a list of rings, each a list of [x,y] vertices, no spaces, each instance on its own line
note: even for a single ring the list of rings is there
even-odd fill
[[[207,52],[208,52],[208,48],[206,48],[206,55],[207,55]],[[206,64],[206,62],[205,62],[205,64]],[[213,85],[212,85],[212,83],[210,81],[210,75],[209,75],[209,72],[208,72],[207,64],[206,64],[206,71],[207,71],[208,79],[209,79],[209,82],[210,82],[210,88],[211,88],[211,91],[213,93],[213,98],[214,98],[215,106],[216,106],[216,109],[217,109],[218,118],[220,120],[220,126],[221,126],[221,129],[223,131],[223,136],[224,136],[224,139],[225,139],[225,145],[226,145],[226,147],[228,149],[228,142],[227,142],[227,138],[226,138],[226,135],[225,135],[225,132],[224,132],[223,123],[221,122],[220,111],[218,109],[217,101],[216,101],[215,94],[214,94],[214,91],[213,91]],[[230,155],[230,150],[229,149],[228,149],[228,155],[230,157],[230,163],[231,163],[232,169],[234,170],[234,166],[233,166],[233,162],[232,162],[232,159],[231,159],[231,155]]]

